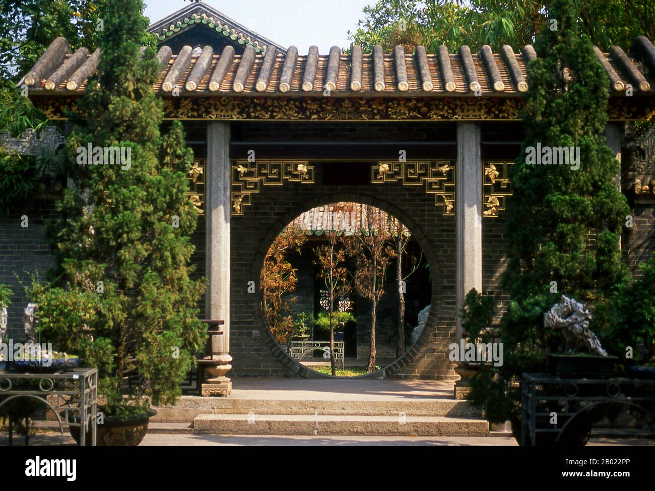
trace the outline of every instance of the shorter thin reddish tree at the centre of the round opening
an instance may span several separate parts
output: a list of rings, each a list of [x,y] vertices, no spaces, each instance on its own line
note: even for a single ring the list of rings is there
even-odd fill
[[[332,375],[335,374],[336,360],[334,357],[334,321],[335,302],[343,298],[350,291],[348,281],[348,269],[346,264],[346,253],[341,246],[341,235],[336,231],[326,232],[327,244],[314,249],[316,261],[314,264],[319,267],[318,279],[322,279],[327,289],[327,329],[329,330],[330,364]],[[320,319],[319,314],[319,319]],[[318,324],[317,324],[318,325]]]

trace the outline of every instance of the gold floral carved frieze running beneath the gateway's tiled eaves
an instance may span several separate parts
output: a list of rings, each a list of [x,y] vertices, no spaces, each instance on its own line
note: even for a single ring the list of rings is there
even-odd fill
[[[31,96],[48,118],[67,119],[77,97]],[[165,119],[228,121],[517,121],[523,99],[517,97],[174,97],[163,98]],[[655,98],[611,98],[610,121],[639,121],[655,115]]]

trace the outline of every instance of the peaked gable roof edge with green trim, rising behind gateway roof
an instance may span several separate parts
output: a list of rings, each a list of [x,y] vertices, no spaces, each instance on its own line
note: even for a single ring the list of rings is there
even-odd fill
[[[265,53],[267,47],[274,46],[280,52],[285,52],[284,47],[267,39],[263,35],[246,28],[236,20],[232,20],[225,14],[215,10],[205,3],[191,3],[183,9],[158,20],[148,28],[148,32],[157,34],[160,43],[187,31],[196,24],[214,29],[217,33],[229,37],[232,41],[245,46],[252,46],[255,52]]]

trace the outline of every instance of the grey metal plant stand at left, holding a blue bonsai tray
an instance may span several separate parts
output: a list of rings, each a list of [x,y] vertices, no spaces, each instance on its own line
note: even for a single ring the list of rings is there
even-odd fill
[[[16,399],[37,400],[52,409],[62,434],[64,433],[62,413],[69,426],[80,427],[80,446],[86,444],[88,429],[90,429],[91,445],[96,446],[97,397],[98,370],[96,368],[79,368],[54,374],[0,372],[0,408],[9,406]],[[69,416],[77,416],[77,420]],[[26,421],[29,422],[28,417]],[[12,444],[11,428],[10,420],[10,445]],[[27,435],[25,441],[28,444]]]

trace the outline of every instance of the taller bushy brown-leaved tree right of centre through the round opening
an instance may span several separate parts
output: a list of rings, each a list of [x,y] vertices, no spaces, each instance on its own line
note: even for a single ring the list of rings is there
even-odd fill
[[[370,205],[362,205],[365,216],[364,233],[347,236],[343,239],[346,254],[350,256],[355,271],[352,281],[358,294],[371,301],[371,347],[368,371],[375,370],[375,328],[377,324],[377,304],[384,295],[386,269],[396,251],[388,245],[390,233],[382,220],[382,212]]]

